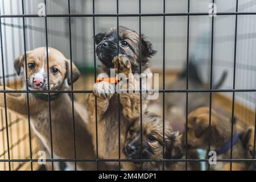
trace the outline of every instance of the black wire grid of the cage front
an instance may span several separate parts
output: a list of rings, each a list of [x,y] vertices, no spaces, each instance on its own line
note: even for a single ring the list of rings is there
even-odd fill
[[[47,1],[44,0],[44,3],[47,4]],[[212,1],[212,3],[214,3],[214,0]],[[46,12],[46,16],[42,16],[40,18],[44,18],[45,19],[45,34],[46,34],[46,50],[47,50],[47,79],[48,79],[48,88],[49,88],[49,64],[48,64],[48,29],[47,29],[47,18],[49,17],[66,17],[68,18],[69,22],[68,22],[68,26],[69,26],[69,51],[70,51],[70,61],[72,63],[72,36],[71,36],[71,18],[75,18],[75,17],[91,17],[93,18],[93,36],[95,36],[96,32],[95,32],[95,18],[96,17],[115,17],[117,19],[117,31],[118,31],[118,27],[119,27],[119,17],[138,17],[139,18],[139,67],[140,67],[140,73],[142,71],[142,64],[141,64],[141,59],[142,59],[142,54],[141,54],[141,17],[143,16],[161,16],[163,17],[163,89],[160,90],[142,90],[142,80],[140,78],[140,90],[135,90],[134,92],[137,92],[140,94],[140,111],[141,111],[141,115],[140,115],[140,120],[141,120],[141,133],[142,133],[142,126],[143,126],[143,122],[142,122],[142,93],[148,93],[148,92],[159,92],[159,93],[163,93],[163,141],[164,141],[164,120],[165,120],[165,109],[164,109],[164,102],[165,102],[165,94],[166,93],[171,93],[171,92],[176,92],[176,93],[185,93],[185,97],[186,97],[186,115],[185,115],[185,148],[186,148],[186,152],[185,152],[185,159],[165,159],[164,158],[164,154],[163,154],[163,159],[121,159],[121,144],[120,144],[120,101],[119,101],[119,93],[118,93],[118,121],[119,121],[119,125],[118,125],[118,159],[100,159],[98,157],[98,118],[97,118],[97,114],[96,114],[96,159],[77,159],[76,158],[76,137],[75,137],[75,133],[76,133],[76,129],[75,129],[75,115],[74,115],[74,101],[73,101],[73,94],[75,93],[92,93],[92,90],[74,90],[73,89],[73,82],[71,84],[71,90],[59,90],[59,91],[53,91],[53,90],[44,90],[44,91],[32,91],[32,90],[28,90],[28,87],[26,88],[26,90],[6,90],[6,85],[9,85],[9,78],[13,77],[14,83],[16,83],[17,78],[15,77],[14,74],[8,74],[8,72],[5,73],[5,67],[8,67],[9,65],[5,65],[5,60],[3,57],[3,35],[2,35],[2,25],[5,26],[4,23],[2,23],[2,19],[3,18],[22,18],[22,22],[23,22],[23,26],[20,27],[23,29],[23,39],[24,39],[24,55],[25,55],[25,63],[27,63],[27,57],[26,57],[26,52],[27,52],[27,48],[26,48],[26,28],[27,26],[30,25],[26,25],[25,24],[25,18],[38,18],[39,16],[36,14],[25,14],[24,13],[24,1],[22,0],[22,14],[11,14],[11,15],[5,15],[0,13],[0,40],[1,40],[1,59],[2,59],[2,73],[3,73],[3,77],[2,77],[2,82],[0,83],[1,85],[3,85],[3,90],[0,90],[0,93],[3,93],[4,95],[4,99],[5,99],[5,108],[3,109],[3,113],[1,121],[3,122],[5,117],[5,127],[4,127],[4,123],[2,123],[2,128],[0,129],[0,131],[5,130],[6,131],[6,140],[4,141],[4,137],[3,137],[3,143],[7,142],[7,150],[5,149],[5,145],[3,145],[3,154],[0,154],[0,156],[6,155],[7,152],[7,159],[0,159],[0,163],[8,163],[8,169],[11,170],[11,163],[20,163],[20,165],[22,165],[22,163],[30,163],[30,168],[31,171],[33,170],[33,163],[34,162],[38,162],[38,159],[33,158],[33,151],[32,151],[32,133],[31,133],[31,126],[30,126],[30,106],[29,106],[29,93],[47,93],[48,94],[48,105],[49,105],[49,122],[50,122],[50,134],[51,134],[51,140],[52,140],[52,128],[51,128],[51,100],[50,100],[50,93],[71,93],[71,98],[72,98],[72,117],[73,117],[73,142],[74,142],[74,158],[73,159],[54,159],[53,158],[53,144],[51,141],[51,159],[46,159],[46,162],[51,162],[51,166],[52,166],[52,170],[54,170],[54,162],[74,162],[75,163],[75,170],[76,168],[76,163],[77,162],[97,162],[97,169],[99,169],[98,163],[99,162],[118,162],[119,164],[119,169],[121,169],[121,162],[141,162],[141,167],[142,167],[142,163],[143,162],[163,162],[163,169],[164,169],[164,164],[166,162],[185,162],[185,169],[187,170],[188,166],[187,163],[188,162],[208,162],[208,159],[188,159],[188,148],[187,148],[187,142],[188,142],[188,134],[187,134],[187,128],[188,128],[188,93],[197,93],[197,92],[203,92],[203,93],[209,93],[210,97],[210,114],[209,114],[209,126],[211,125],[211,120],[212,120],[212,93],[232,93],[232,123],[231,123],[231,142],[233,143],[233,129],[234,129],[234,102],[235,102],[235,93],[238,92],[256,92],[256,89],[236,89],[236,53],[237,53],[237,19],[238,16],[242,16],[242,15],[256,15],[256,12],[240,12],[238,11],[238,0],[236,0],[236,11],[234,12],[217,12],[216,15],[233,15],[235,16],[236,20],[236,24],[235,24],[235,35],[234,35],[234,65],[233,65],[233,85],[232,85],[232,89],[213,89],[213,84],[212,84],[212,77],[213,77],[213,49],[214,49],[214,16],[212,16],[212,23],[211,23],[211,43],[210,43],[210,88],[209,89],[189,89],[188,88],[188,69],[187,69],[187,81],[186,81],[186,89],[166,89],[166,61],[165,61],[165,55],[166,55],[166,16],[187,16],[187,60],[186,60],[186,65],[188,68],[188,63],[189,63],[189,18],[191,16],[202,16],[202,15],[209,15],[209,13],[191,13],[190,12],[190,1],[188,0],[188,6],[187,6],[187,13],[166,13],[166,1],[163,0],[163,13],[141,13],[141,0],[138,1],[138,6],[139,6],[139,13],[138,14],[119,14],[119,10],[118,10],[118,0],[116,1],[116,14],[95,14],[95,0],[93,0],[93,14],[71,14],[71,9],[70,9],[70,0],[68,0],[68,14],[47,14]],[[117,34],[118,36],[118,34]],[[117,38],[118,41],[118,38]],[[96,44],[95,44],[95,40],[94,40],[94,46],[93,46],[93,50],[95,52],[96,50]],[[118,50],[118,49],[117,49]],[[119,50],[118,50],[119,51]],[[119,68],[118,68],[119,70]],[[26,78],[27,78],[27,67],[24,70],[26,73]],[[96,55],[94,53],[94,82],[96,82],[97,79],[97,73],[96,73]],[[71,76],[72,76],[72,64],[71,64]],[[72,80],[72,79],[71,79]],[[0,79],[1,81],[1,79]],[[15,85],[16,88],[16,85]],[[13,125],[14,123],[19,123],[19,122],[24,122],[22,121],[22,119],[16,118],[14,121],[8,123],[8,118],[9,115],[7,113],[7,107],[6,107],[6,93],[26,93],[27,94],[27,124],[28,124],[28,133],[25,134],[23,137],[20,137],[20,140],[18,140],[18,143],[14,143],[14,144],[10,144],[10,131],[9,128],[11,127],[11,125]],[[96,97],[96,96],[95,96]],[[95,99],[95,110],[97,113],[97,99]],[[2,110],[1,110],[2,111]],[[256,110],[255,110],[256,112]],[[23,128],[26,125],[23,124]],[[255,121],[254,121],[254,126],[256,126],[256,117],[255,117]],[[256,128],[256,127],[255,127]],[[210,127],[209,127],[210,129]],[[4,134],[4,133],[3,133]],[[26,159],[11,159],[10,157],[10,152],[11,149],[15,146],[18,145],[19,142],[22,141],[22,139],[24,137],[29,137],[29,150],[30,150],[30,155],[28,156],[28,158]],[[255,140],[255,136],[254,136],[254,140]],[[210,135],[209,135],[209,151],[210,151]],[[142,135],[141,135],[141,144],[142,144]],[[163,151],[164,151],[164,146],[163,146]],[[255,141],[254,141],[254,151],[255,151]],[[232,154],[233,154],[233,148],[230,148],[230,159],[217,159],[217,162],[230,162],[230,170],[232,170],[232,162],[255,162],[255,154],[253,155],[254,158],[253,159],[233,159],[232,158]],[[210,164],[208,164],[208,169],[210,169],[209,167]],[[15,169],[19,169],[20,166],[18,166]],[[7,169],[7,168],[5,168]]]

